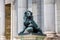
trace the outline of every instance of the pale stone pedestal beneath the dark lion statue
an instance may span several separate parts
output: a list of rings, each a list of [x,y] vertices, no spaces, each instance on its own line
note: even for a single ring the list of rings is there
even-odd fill
[[[15,37],[16,40],[44,40],[45,36],[40,35],[21,35]]]

